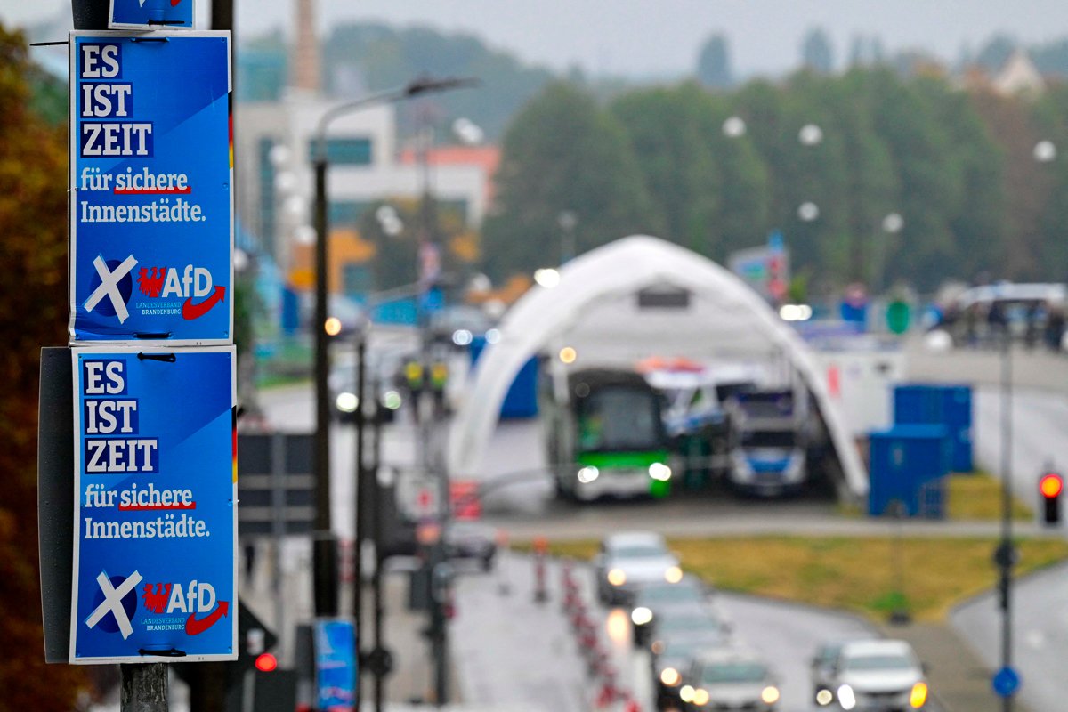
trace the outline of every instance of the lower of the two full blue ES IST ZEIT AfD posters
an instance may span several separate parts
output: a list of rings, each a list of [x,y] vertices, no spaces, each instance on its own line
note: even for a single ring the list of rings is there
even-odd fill
[[[236,659],[234,347],[72,358],[70,662]]]

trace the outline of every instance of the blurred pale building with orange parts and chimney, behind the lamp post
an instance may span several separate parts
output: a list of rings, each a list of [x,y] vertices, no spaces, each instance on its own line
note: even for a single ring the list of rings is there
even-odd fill
[[[299,292],[311,289],[314,280],[311,160],[316,127],[329,108],[360,97],[324,96],[320,76],[329,67],[320,68],[318,63],[314,0],[296,0],[295,7],[297,42],[286,62],[270,51],[238,53],[238,78],[260,81],[238,89],[234,137],[235,169],[240,176],[237,212],[263,251],[273,257],[286,286]],[[242,67],[255,70],[242,72]],[[280,92],[263,81],[272,77],[285,82]],[[437,122],[426,128],[430,137],[447,133]],[[398,145],[395,107],[388,104],[368,105],[333,121],[325,147],[329,288],[350,296],[395,286],[374,285],[370,279],[367,265],[376,249],[359,231],[368,209],[390,201],[410,204],[427,189],[439,205],[458,210],[474,233],[491,200],[492,172],[499,161],[499,151],[491,146],[431,145],[423,152]]]

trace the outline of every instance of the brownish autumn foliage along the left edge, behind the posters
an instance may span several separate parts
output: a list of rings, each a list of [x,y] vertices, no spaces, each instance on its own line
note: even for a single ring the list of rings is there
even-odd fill
[[[38,360],[66,344],[66,143],[29,109],[29,72],[22,36],[0,27],[0,690],[5,709],[69,710],[81,674],[45,665],[36,608]]]

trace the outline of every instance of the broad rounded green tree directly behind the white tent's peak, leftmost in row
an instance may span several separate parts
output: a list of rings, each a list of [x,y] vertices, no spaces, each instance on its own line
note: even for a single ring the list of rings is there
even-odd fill
[[[497,206],[483,227],[493,275],[557,264],[557,218],[570,210],[579,252],[633,233],[662,233],[618,122],[574,85],[553,83],[504,137]]]

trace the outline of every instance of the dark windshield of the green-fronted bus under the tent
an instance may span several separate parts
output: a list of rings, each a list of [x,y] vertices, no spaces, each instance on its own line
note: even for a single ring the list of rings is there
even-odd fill
[[[607,387],[577,404],[579,447],[585,452],[656,449],[664,446],[657,395]]]

